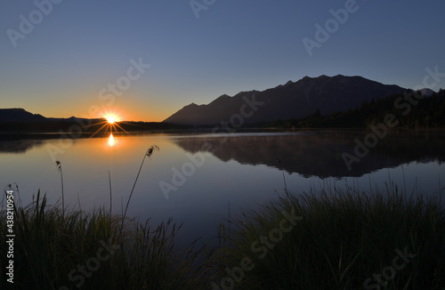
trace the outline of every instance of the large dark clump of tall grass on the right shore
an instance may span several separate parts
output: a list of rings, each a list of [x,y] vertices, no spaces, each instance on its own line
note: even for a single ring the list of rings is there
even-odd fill
[[[303,220],[271,243],[271,232],[285,219],[282,212],[292,210]],[[234,223],[237,230],[223,237],[229,242],[219,253],[219,267],[240,268],[244,258],[255,265],[235,275],[235,289],[445,289],[440,195],[407,194],[392,183],[372,193],[322,189],[280,196]],[[269,237],[271,248],[258,243],[262,236]],[[265,255],[259,246],[267,248]],[[416,256],[392,277],[388,267],[399,250]],[[382,278],[379,285],[373,275],[389,281]]]

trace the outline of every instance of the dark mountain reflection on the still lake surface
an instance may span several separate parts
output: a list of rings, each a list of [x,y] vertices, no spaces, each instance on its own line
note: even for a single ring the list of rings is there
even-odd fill
[[[363,141],[366,132],[325,131],[299,134],[251,134],[239,136],[182,137],[174,139],[191,153],[210,148],[215,157],[240,164],[268,165],[305,177],[360,177],[382,168],[410,162],[428,163],[445,160],[444,133],[440,131],[394,131],[379,140],[366,157],[349,171],[342,153],[353,153],[354,139]],[[203,147],[203,144],[207,144]]]

